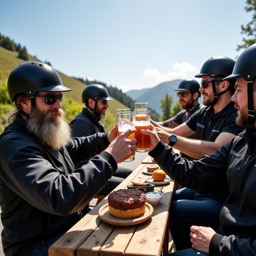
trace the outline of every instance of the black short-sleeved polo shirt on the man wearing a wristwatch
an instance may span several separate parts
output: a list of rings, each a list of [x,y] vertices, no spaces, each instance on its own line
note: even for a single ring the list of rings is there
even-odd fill
[[[215,141],[222,132],[238,135],[244,128],[236,124],[237,109],[230,102],[218,113],[206,106],[200,109],[186,121],[187,126],[196,132],[197,140]]]

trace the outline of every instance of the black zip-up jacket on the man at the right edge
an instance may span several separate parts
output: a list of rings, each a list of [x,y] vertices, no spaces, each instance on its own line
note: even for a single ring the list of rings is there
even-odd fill
[[[210,156],[187,161],[162,141],[149,152],[176,182],[203,190],[226,182],[230,195],[220,212],[220,228],[210,242],[209,254],[256,255],[256,132],[244,130]]]

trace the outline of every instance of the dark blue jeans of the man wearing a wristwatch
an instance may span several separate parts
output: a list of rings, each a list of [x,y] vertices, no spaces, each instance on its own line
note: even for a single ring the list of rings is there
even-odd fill
[[[197,197],[189,188],[176,190],[169,214],[169,228],[177,251],[191,248],[190,227],[204,226],[216,230],[222,204],[212,198]]]

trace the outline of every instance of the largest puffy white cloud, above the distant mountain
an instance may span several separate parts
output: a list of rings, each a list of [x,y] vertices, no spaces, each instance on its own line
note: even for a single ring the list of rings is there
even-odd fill
[[[147,68],[144,70],[144,76],[153,77],[155,82],[161,83],[173,79],[194,77],[195,72],[197,71],[198,69],[189,62],[181,62],[173,64],[172,70],[166,74],[161,74],[158,69]]]

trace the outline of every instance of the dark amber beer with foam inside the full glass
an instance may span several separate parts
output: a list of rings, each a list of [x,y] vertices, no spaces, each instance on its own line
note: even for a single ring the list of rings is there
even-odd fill
[[[136,121],[135,122],[135,139],[137,140],[135,151],[137,152],[147,152],[149,151],[149,135],[144,135],[141,133],[141,129],[150,130],[150,123],[146,121]]]

